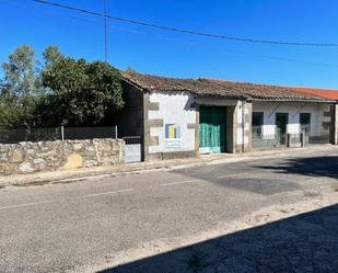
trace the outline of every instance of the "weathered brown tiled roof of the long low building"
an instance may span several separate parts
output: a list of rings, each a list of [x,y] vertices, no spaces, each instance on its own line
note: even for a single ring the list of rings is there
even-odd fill
[[[331,101],[325,96],[298,92],[294,88],[235,82],[214,79],[175,79],[123,72],[126,81],[149,92],[190,92],[196,95],[226,99],[279,100],[279,101]]]

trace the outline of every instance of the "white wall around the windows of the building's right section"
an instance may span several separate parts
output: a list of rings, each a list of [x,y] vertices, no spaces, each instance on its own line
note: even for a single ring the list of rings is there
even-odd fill
[[[323,129],[323,122],[329,122],[324,112],[329,111],[325,103],[298,103],[298,102],[254,102],[253,112],[264,112],[263,135],[272,136],[276,133],[276,113],[289,113],[288,134],[301,132],[300,113],[311,113],[311,136],[320,136],[327,133]]]

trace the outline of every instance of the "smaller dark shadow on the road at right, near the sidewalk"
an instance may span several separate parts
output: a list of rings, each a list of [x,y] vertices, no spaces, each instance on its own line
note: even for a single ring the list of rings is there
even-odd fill
[[[338,179],[338,156],[292,158],[275,166],[255,166],[277,173],[293,173],[310,177]]]

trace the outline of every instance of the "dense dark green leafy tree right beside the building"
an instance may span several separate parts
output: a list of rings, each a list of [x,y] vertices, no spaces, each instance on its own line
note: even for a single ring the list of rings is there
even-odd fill
[[[106,62],[60,57],[43,70],[42,83],[51,90],[38,106],[49,126],[96,125],[124,105],[120,73]]]

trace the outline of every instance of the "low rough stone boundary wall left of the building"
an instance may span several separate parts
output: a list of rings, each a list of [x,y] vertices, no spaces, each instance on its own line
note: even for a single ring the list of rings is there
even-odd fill
[[[0,175],[114,166],[124,160],[123,139],[0,145]]]

